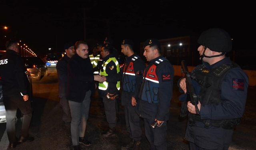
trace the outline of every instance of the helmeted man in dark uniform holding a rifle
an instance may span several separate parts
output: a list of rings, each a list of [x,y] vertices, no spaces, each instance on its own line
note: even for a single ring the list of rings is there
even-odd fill
[[[199,113],[188,101],[185,139],[190,150],[228,150],[234,127],[240,122],[246,104],[248,77],[230,58],[230,35],[220,28],[208,29],[198,39],[202,65],[192,71]],[[196,82],[195,82],[196,81]],[[178,86],[187,92],[186,78]]]

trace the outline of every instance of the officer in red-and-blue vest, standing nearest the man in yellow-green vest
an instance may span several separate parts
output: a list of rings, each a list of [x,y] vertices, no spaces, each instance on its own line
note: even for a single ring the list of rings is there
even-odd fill
[[[121,52],[127,56],[123,67],[122,76],[122,106],[124,106],[124,116],[126,129],[132,139],[128,144],[122,146],[122,150],[134,148],[140,149],[142,130],[140,128],[140,117],[135,112],[136,100],[142,84],[142,72],[145,69],[145,62],[134,54],[132,40],[125,39],[121,43]]]

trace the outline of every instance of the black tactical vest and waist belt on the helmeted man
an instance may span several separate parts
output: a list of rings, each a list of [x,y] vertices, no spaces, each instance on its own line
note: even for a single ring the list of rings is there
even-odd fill
[[[203,65],[198,66],[193,76],[196,81],[200,84],[200,93],[198,94],[200,103],[204,105],[218,105],[221,102],[221,84],[222,80],[228,73],[228,70],[239,67],[237,64],[223,64],[213,70],[208,70]],[[201,120],[200,115],[190,114],[189,122],[192,123],[194,120],[204,122],[205,128],[209,126],[215,126],[224,129],[233,129],[240,122],[240,118],[228,119],[228,120]]]

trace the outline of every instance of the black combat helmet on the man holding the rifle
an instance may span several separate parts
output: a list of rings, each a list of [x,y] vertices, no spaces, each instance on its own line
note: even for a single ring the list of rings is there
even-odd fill
[[[215,52],[230,52],[232,49],[230,35],[220,28],[211,28],[202,32],[197,42]]]

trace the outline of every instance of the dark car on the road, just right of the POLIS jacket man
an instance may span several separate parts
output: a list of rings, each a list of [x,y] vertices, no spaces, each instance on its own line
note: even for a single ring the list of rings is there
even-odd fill
[[[25,68],[31,73],[32,78],[41,80],[48,74],[46,64],[39,57],[24,56]]]

